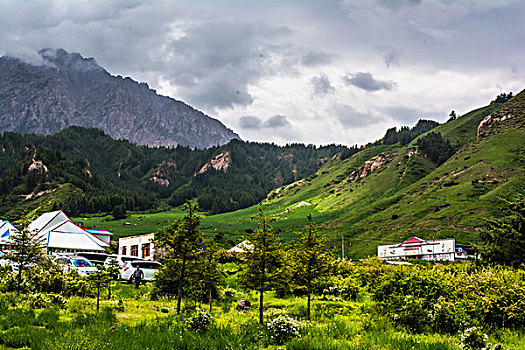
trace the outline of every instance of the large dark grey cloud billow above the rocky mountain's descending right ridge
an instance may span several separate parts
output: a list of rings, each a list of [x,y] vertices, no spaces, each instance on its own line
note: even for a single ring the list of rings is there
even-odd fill
[[[248,85],[282,69],[285,48],[279,40],[289,33],[261,22],[199,23],[171,43],[167,78],[175,86],[183,84],[183,98],[199,106],[250,105]]]

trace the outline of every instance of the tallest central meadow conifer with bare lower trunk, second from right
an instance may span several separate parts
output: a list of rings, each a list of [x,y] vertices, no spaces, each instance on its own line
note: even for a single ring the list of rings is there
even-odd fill
[[[240,276],[244,288],[259,292],[259,323],[263,323],[264,292],[272,290],[279,283],[283,268],[283,250],[276,231],[271,226],[275,218],[267,217],[261,208],[252,219],[259,221],[256,230],[247,239],[252,249],[246,252],[246,264]]]

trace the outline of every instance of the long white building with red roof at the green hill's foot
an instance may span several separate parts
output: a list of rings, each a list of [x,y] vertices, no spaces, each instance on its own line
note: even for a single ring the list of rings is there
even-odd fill
[[[425,241],[418,237],[412,237],[403,243],[378,246],[377,256],[385,260],[455,261],[457,260],[456,240],[449,238]]]

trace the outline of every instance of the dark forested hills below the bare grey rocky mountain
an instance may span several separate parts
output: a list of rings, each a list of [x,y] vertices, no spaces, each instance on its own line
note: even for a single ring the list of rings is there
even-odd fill
[[[54,207],[73,216],[112,212],[116,206],[178,206],[188,199],[196,199],[211,213],[227,212],[258,203],[273,188],[313,174],[347,150],[342,145],[277,146],[240,140],[204,150],[146,147],[82,127],[48,136],[5,132],[0,135],[0,197],[6,205],[0,206],[0,215],[20,203],[17,196],[66,183],[73,185],[75,194],[58,198]],[[35,152],[48,172],[28,172]],[[200,173],[214,157],[226,153],[227,169],[209,167]]]

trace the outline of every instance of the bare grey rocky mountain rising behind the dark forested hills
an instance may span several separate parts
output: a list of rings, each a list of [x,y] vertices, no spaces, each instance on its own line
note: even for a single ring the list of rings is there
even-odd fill
[[[78,125],[149,146],[206,148],[239,136],[145,83],[115,77],[94,59],[63,49],[38,64],[0,57],[0,132],[53,134]]]

